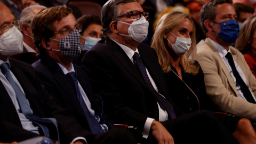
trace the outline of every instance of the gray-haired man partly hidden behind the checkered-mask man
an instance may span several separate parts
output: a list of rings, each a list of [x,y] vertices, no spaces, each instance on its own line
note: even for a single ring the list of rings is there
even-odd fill
[[[19,27],[23,35],[23,52],[36,52],[36,46],[33,43],[30,22],[35,13],[41,9],[45,9],[43,5],[28,6],[21,11],[19,18]]]

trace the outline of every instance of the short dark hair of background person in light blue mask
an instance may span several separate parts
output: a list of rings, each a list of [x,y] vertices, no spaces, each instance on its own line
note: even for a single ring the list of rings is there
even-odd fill
[[[84,30],[92,24],[101,25],[100,18],[90,14],[83,15],[81,18],[77,19],[77,23],[83,27],[80,34],[83,34]]]

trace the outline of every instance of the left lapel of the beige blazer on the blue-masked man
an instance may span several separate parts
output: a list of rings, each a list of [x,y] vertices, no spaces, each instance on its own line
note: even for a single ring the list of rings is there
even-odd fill
[[[236,96],[238,97],[238,93],[237,93],[237,90],[236,90],[236,85],[233,81],[233,78],[231,77],[231,75],[229,73],[229,70],[228,70],[227,66],[225,65],[222,58],[220,57],[220,54],[218,53],[216,48],[213,46],[213,44],[209,41],[209,39],[206,38],[205,43],[207,43],[207,45],[209,45],[211,50],[214,52],[215,58],[217,58],[217,61],[220,63],[220,67],[221,67],[223,73],[226,75],[231,89],[233,90],[233,92],[236,93]]]

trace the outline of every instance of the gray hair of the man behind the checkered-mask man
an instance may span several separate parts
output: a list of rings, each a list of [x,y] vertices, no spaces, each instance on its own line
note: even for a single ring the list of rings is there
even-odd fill
[[[22,23],[26,23],[28,25],[30,24],[31,20],[34,17],[34,13],[32,11],[34,8],[46,9],[47,7],[45,7],[43,5],[31,5],[31,6],[26,7],[25,9],[23,9],[20,13],[20,18],[19,18],[20,27],[21,27]]]

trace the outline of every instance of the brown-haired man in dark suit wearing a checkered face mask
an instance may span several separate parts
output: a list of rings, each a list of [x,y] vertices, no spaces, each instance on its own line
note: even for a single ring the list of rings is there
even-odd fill
[[[131,132],[114,129],[94,99],[84,70],[72,64],[81,54],[82,29],[71,12],[57,6],[35,14],[31,30],[40,59],[32,66],[58,105],[69,109],[87,135],[95,134],[86,137],[87,143],[136,143]]]

